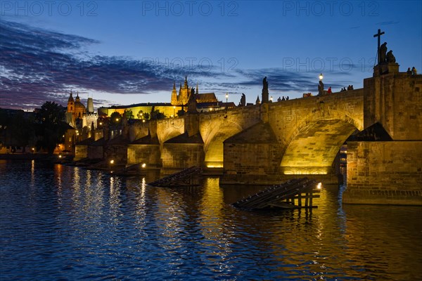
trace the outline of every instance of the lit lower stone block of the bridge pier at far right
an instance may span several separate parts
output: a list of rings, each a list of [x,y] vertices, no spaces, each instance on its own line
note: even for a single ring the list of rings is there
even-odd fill
[[[347,190],[351,204],[422,205],[422,141],[347,143]]]

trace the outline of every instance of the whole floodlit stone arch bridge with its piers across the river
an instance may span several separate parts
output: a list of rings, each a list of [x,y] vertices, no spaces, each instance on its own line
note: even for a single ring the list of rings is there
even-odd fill
[[[422,205],[421,112],[422,75],[397,68],[374,72],[363,89],[126,126],[123,160],[218,168],[220,183],[272,184],[304,174],[326,183],[347,140],[343,202]]]

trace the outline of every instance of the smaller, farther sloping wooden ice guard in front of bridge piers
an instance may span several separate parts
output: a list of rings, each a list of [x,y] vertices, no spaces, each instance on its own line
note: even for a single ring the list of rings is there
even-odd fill
[[[190,168],[179,171],[176,174],[171,174],[170,176],[165,176],[160,178],[157,181],[148,183],[152,186],[162,186],[162,187],[177,187],[177,186],[194,186],[198,185],[194,180],[194,177],[200,175],[202,169],[197,166],[191,166]]]

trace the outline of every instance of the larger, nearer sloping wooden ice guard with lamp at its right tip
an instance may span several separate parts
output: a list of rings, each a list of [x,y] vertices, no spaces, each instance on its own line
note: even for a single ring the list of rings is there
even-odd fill
[[[312,199],[318,198],[320,184],[308,178],[298,178],[280,185],[269,186],[268,188],[235,202],[234,207],[245,209],[264,209],[269,207],[280,208],[316,208],[312,205]],[[302,200],[305,204],[302,205]],[[297,205],[295,205],[297,200]]]

